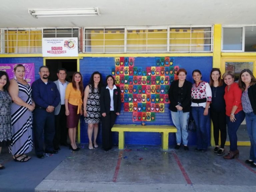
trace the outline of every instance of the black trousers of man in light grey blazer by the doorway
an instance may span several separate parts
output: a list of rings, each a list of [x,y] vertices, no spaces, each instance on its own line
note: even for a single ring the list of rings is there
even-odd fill
[[[55,115],[55,135],[53,139],[53,146],[55,149],[59,147],[59,144],[67,143],[67,133],[65,105],[61,105],[59,114]]]

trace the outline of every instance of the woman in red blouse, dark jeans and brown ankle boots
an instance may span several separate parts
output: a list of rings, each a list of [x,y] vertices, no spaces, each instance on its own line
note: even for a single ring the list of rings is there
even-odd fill
[[[241,103],[242,91],[238,84],[234,82],[234,77],[235,73],[233,71],[226,71],[222,76],[224,82],[227,84],[224,99],[226,103],[226,121],[230,141],[230,151],[224,156],[224,159],[238,158],[239,151],[237,149],[236,132],[245,117]]]

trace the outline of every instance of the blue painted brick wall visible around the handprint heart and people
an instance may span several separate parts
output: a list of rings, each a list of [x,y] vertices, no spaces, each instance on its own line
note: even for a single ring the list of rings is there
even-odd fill
[[[155,57],[135,57],[134,66],[142,67],[146,70],[146,67],[155,66]],[[43,65],[42,57],[13,57],[13,58],[0,58],[0,63],[34,63],[35,64],[35,79],[39,78],[39,67]],[[209,82],[209,75],[212,69],[212,57],[174,57],[174,65],[178,65],[180,68],[185,68],[188,72],[187,80],[193,82],[192,71],[199,69],[202,72],[203,80]],[[114,57],[84,57],[80,60],[80,72],[83,75],[83,83],[86,86],[89,82],[89,78],[94,71],[99,71],[105,77],[111,74],[111,69],[115,67]],[[147,122],[147,124],[168,125],[172,123],[170,117],[170,111],[168,105],[165,104],[164,113],[156,113],[155,122]],[[84,123],[83,117],[81,117],[81,143],[88,143],[87,137],[87,125]],[[123,111],[123,104],[120,116],[116,120],[117,124],[140,124],[140,122],[132,121],[132,113]],[[207,122],[207,128],[210,138],[210,120]],[[143,145],[161,145],[160,133],[125,133],[126,144],[143,144]],[[101,143],[101,128],[99,131],[98,142]],[[113,142],[118,144],[118,133],[113,133]],[[175,134],[169,134],[169,145],[175,145]],[[189,145],[196,144],[196,134],[189,133]],[[210,139],[209,139],[210,144]]]

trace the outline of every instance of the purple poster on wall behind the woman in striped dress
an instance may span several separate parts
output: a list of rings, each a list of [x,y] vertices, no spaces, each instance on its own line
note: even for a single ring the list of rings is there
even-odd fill
[[[16,78],[14,75],[13,68],[17,64],[22,64],[25,67],[25,80],[31,85],[35,81],[35,66],[34,63],[0,63],[0,70],[6,71],[9,76],[9,79]]]

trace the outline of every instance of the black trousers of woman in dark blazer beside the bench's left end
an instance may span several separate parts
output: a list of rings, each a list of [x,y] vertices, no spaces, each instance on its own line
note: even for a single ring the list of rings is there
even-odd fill
[[[102,125],[102,148],[110,149],[112,147],[112,132],[111,128],[115,124],[116,114],[114,111],[110,111],[103,117],[101,115],[101,125]]]

